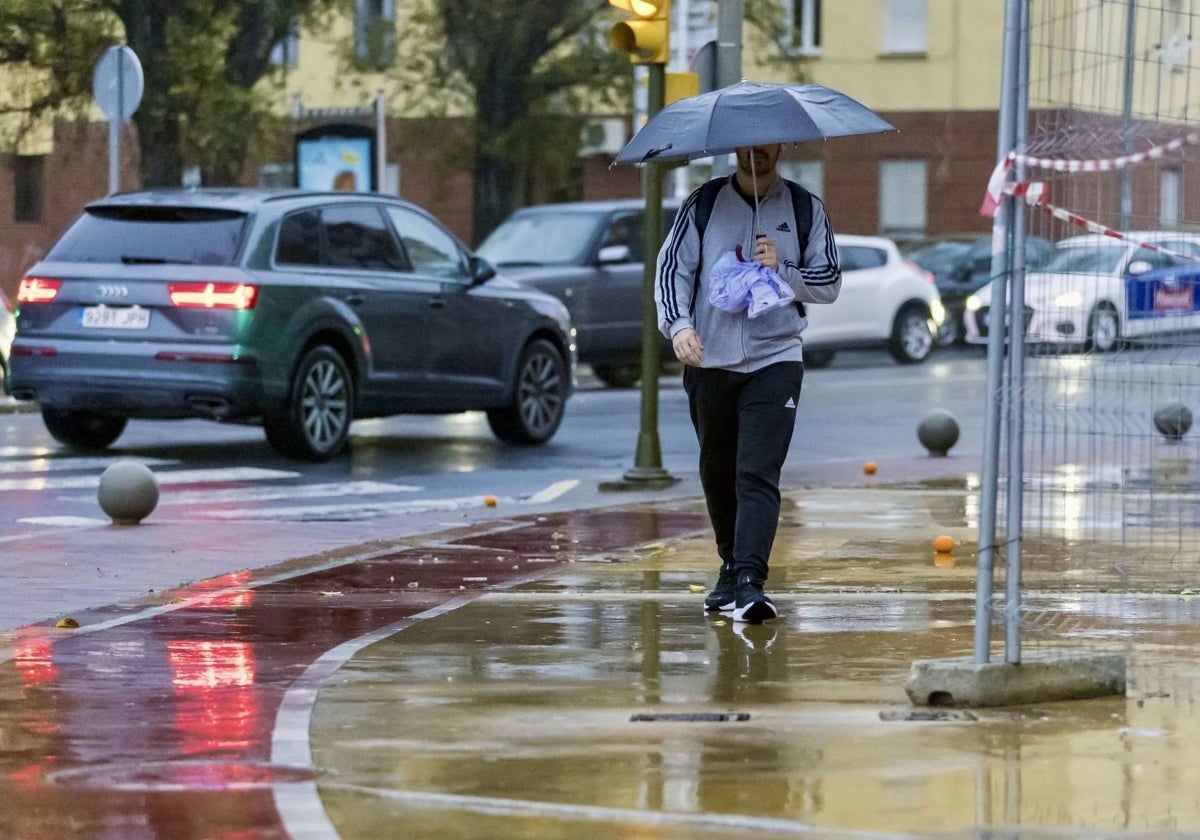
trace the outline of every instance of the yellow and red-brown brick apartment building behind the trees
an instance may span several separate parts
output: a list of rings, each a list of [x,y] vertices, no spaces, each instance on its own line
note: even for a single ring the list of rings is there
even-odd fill
[[[272,89],[278,113],[296,131],[323,122],[377,125],[378,102],[398,101],[383,70],[395,55],[388,36],[406,25],[406,0],[356,0],[353,19],[320,31],[296,31],[275,50],[286,68]],[[1003,0],[781,0],[784,48],[804,58],[808,79],[841,90],[881,113],[898,132],[803,144],[785,155],[785,169],[823,196],[838,228],[924,238],[983,232],[978,206],[996,158]],[[716,20],[713,0],[677,0],[689,20]],[[701,28],[703,30],[703,26]],[[715,31],[715,30],[714,30]],[[379,34],[383,32],[383,37]],[[762,42],[748,22],[743,76],[785,80],[791,65]],[[347,44],[367,50],[377,73],[348,74]],[[389,52],[390,50],[390,52]],[[410,103],[384,108],[388,167],[382,187],[418,202],[464,240],[470,230],[469,158],[460,170],[436,163],[430,137],[469,136],[469,103],[437,102],[420,113]],[[600,134],[583,154],[580,198],[638,194],[630,167],[610,168],[628,137],[631,115],[604,115]],[[595,128],[595,126],[593,126]],[[122,132],[122,185],[137,186],[136,137]],[[53,131],[0,149],[0,283],[11,289],[20,271],[92,198],[107,192],[107,125],[60,121]],[[287,184],[293,178],[289,138],[258,150],[244,181]],[[716,162],[718,168],[720,162]],[[692,180],[706,174],[701,166]]]

